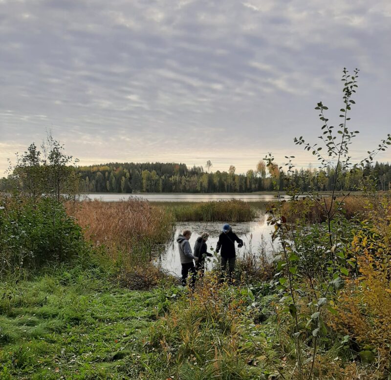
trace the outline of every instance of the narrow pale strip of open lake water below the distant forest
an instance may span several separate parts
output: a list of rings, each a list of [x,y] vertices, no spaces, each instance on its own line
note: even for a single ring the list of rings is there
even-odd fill
[[[118,202],[129,198],[143,198],[151,202],[208,202],[208,201],[226,201],[231,199],[239,199],[245,202],[257,201],[274,201],[274,194],[113,194],[113,193],[90,193],[85,194],[89,199],[97,199],[104,202]],[[288,199],[286,195],[281,198]]]

